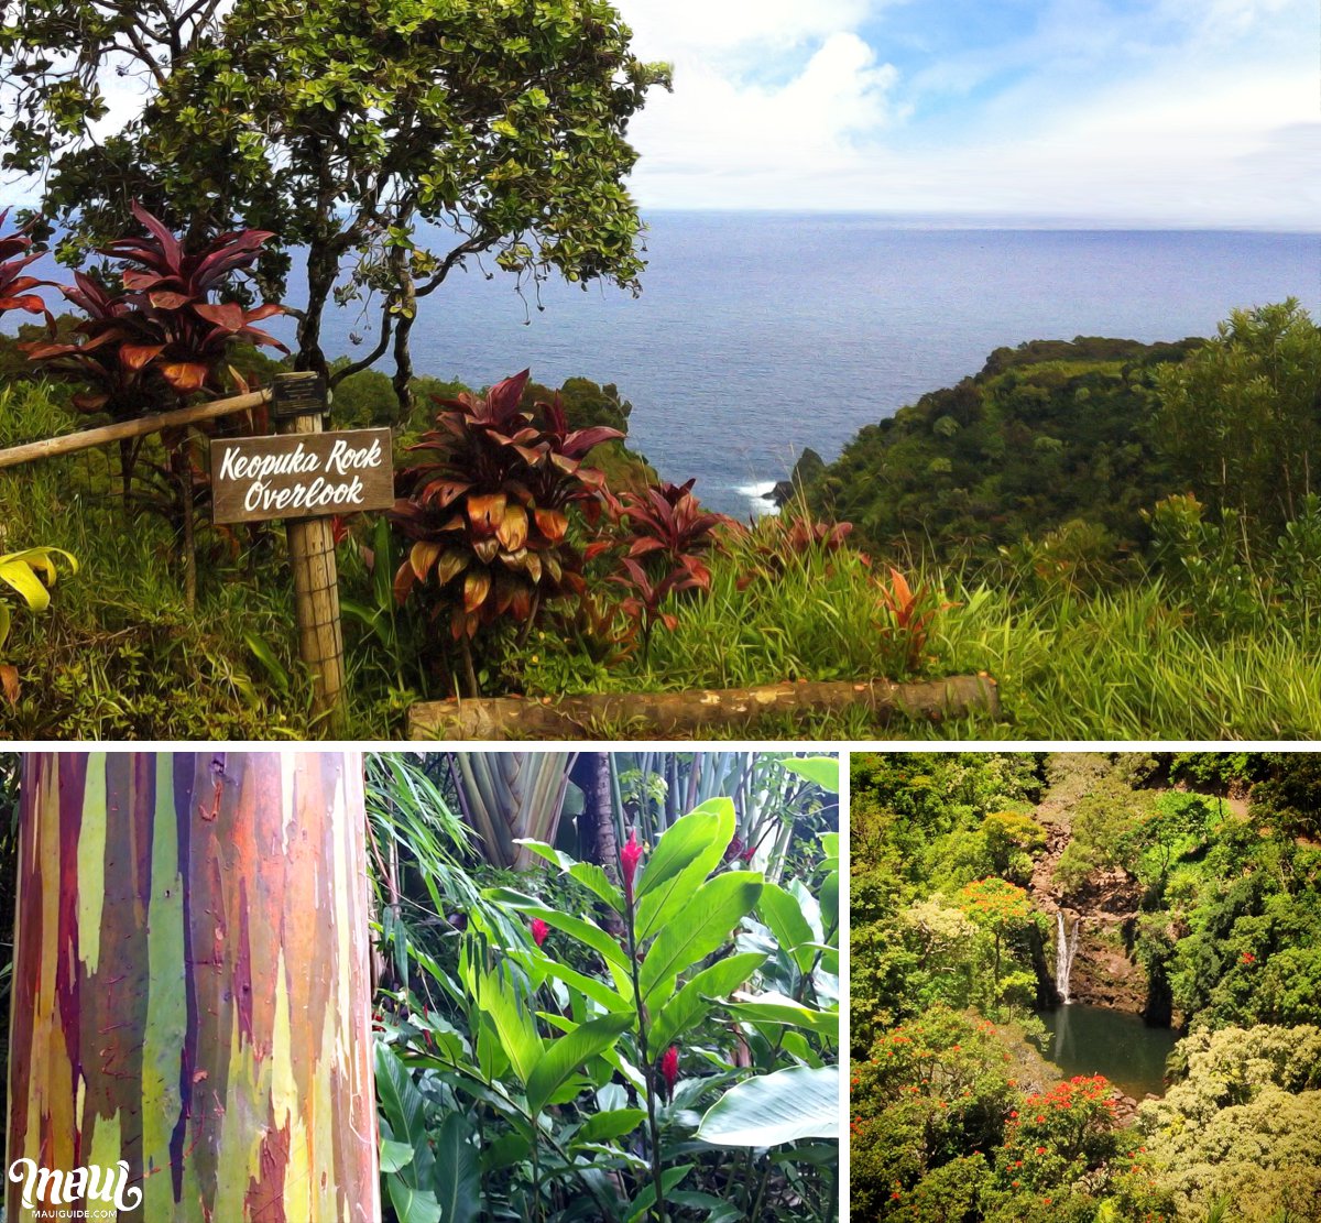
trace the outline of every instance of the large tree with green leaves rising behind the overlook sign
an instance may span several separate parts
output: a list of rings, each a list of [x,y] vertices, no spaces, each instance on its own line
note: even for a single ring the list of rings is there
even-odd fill
[[[20,0],[0,17],[0,165],[44,176],[71,260],[133,199],[193,240],[273,231],[268,298],[304,260],[299,367],[329,371],[325,309],[362,300],[375,343],[332,382],[392,345],[407,404],[413,318],[456,268],[637,289],[625,137],[670,77],[629,40],[606,0]],[[102,135],[124,81],[135,104]]]

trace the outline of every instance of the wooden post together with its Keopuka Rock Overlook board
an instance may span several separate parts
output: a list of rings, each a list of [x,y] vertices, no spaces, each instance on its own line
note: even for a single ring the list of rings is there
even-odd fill
[[[324,433],[325,383],[317,374],[277,374],[275,437],[211,442],[213,519],[287,519],[299,656],[312,674],[313,713],[343,730],[343,630],[333,514],[394,505],[390,429]]]

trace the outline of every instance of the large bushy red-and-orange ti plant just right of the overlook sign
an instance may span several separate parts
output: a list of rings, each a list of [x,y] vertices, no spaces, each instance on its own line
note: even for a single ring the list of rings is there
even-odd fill
[[[569,510],[597,515],[605,483],[583,460],[624,436],[604,425],[571,431],[557,396],[522,408],[527,379],[524,370],[485,396],[439,400],[436,428],[410,448],[424,461],[399,474],[403,495],[390,511],[412,540],[395,596],[403,602],[433,578],[449,597],[450,635],[473,695],[470,642],[480,629],[510,618],[526,635],[547,601],[581,592],[583,553],[569,539]]]

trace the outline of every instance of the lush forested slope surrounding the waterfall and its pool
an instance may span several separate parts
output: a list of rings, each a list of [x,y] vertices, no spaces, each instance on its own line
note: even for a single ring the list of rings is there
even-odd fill
[[[856,1220],[1321,1218],[1316,758],[859,755],[852,787]],[[1147,1099],[1045,1061],[1074,927],[1074,1005],[1180,1037]]]

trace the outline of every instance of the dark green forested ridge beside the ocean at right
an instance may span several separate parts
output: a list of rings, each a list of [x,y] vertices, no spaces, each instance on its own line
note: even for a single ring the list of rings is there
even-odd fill
[[[1211,342],[1032,341],[865,425],[803,483],[886,553],[1053,563],[1095,585],[1159,561],[1170,498],[1273,542],[1313,491],[1318,379],[1321,341],[1295,301],[1236,310]]]

